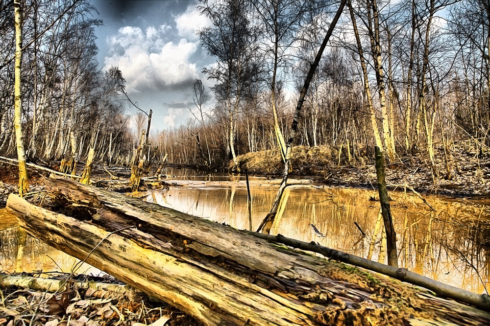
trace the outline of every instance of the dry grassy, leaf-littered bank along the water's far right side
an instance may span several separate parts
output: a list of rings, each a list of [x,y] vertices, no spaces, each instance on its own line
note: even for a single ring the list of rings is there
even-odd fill
[[[339,153],[340,152],[340,153]],[[340,154],[340,155],[339,155]],[[399,153],[401,155],[402,153]],[[435,166],[425,155],[415,153],[399,156],[386,165],[386,179],[390,185],[408,185],[418,192],[447,196],[486,197],[490,193],[490,152],[475,148],[474,143],[455,143],[448,156],[449,177],[444,151],[435,150]],[[247,153],[238,157],[242,170],[254,175],[279,176],[282,161],[278,150]],[[295,176],[314,176],[315,182],[347,187],[376,186],[374,154],[362,148],[350,148],[350,160],[345,146],[295,146],[292,151],[292,171]],[[232,166],[230,162],[229,166]],[[389,187],[403,190],[400,186]]]

